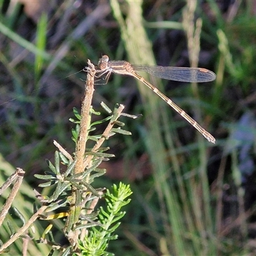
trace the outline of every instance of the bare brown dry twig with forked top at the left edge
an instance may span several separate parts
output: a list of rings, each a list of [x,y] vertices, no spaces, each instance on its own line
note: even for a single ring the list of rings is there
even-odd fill
[[[10,195],[8,196],[5,204],[3,205],[2,211],[0,212],[0,227],[4,221],[6,214],[8,213],[10,207],[12,206],[12,202],[13,202],[15,196],[17,195],[17,192],[19,191],[20,185],[21,185],[23,177],[24,177],[24,173],[25,172],[22,169],[17,168],[16,172],[13,173],[13,175],[5,183],[8,186],[10,186],[10,182],[12,182],[13,179],[15,179],[17,177],[17,180],[16,180],[15,184],[13,185],[12,191],[11,191]],[[3,187],[5,188],[5,186],[3,186]]]

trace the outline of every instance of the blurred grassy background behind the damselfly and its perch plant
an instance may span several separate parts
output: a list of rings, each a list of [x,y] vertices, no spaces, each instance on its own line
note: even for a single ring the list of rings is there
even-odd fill
[[[132,136],[108,140],[116,158],[95,182],[109,188],[123,180],[134,192],[109,252],[255,254],[256,1],[1,1],[0,8],[0,179],[12,166],[26,171],[21,212],[31,216],[32,207],[20,208],[33,203],[33,175],[54,159],[52,141],[74,152],[68,118],[80,109],[88,59],[204,67],[216,81],[141,75],[211,132],[215,145],[132,77],[113,74],[95,86],[96,111],[104,101],[143,114],[124,120]],[[0,230],[0,239],[7,233]],[[48,252],[32,243],[30,255]]]

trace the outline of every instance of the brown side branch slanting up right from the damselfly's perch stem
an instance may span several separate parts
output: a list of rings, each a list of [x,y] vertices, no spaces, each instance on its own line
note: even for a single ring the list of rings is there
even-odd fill
[[[92,152],[97,152],[98,148],[101,147],[102,143],[104,143],[105,140],[109,138],[109,133],[111,132],[111,129],[115,125],[115,121],[120,117],[122,114],[122,111],[124,110],[124,105],[120,104],[119,108],[116,111],[115,119],[111,118],[108,126],[106,127],[105,131],[103,132],[101,138],[97,141],[97,143],[92,148]],[[84,160],[84,166],[88,166],[90,164],[90,161],[92,160],[93,156],[88,156]]]

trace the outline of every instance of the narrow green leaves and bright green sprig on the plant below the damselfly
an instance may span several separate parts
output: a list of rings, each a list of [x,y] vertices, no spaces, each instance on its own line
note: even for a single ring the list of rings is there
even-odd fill
[[[105,104],[104,107],[104,109],[106,109]],[[110,116],[88,125],[88,134],[97,130],[97,125],[104,124],[107,121],[109,121],[109,124],[111,125],[124,126],[123,122],[117,122],[117,111],[118,104],[116,105],[113,113],[110,111],[110,109],[108,109]],[[96,113],[92,108],[90,108],[89,115],[92,113],[94,115],[100,115],[100,113]],[[77,143],[79,143],[78,138],[81,136],[80,124],[82,117],[79,115],[77,109],[74,109],[74,115],[76,116],[77,120],[74,120],[73,118],[70,120],[76,124],[77,127],[76,130],[72,131],[72,139],[76,142],[77,145]],[[106,137],[115,135],[116,130],[118,129],[112,127]],[[124,130],[120,129],[120,131]],[[131,134],[129,132],[124,133],[126,135]],[[95,145],[98,145],[100,143],[99,141],[103,137],[103,134],[98,134],[97,136],[88,136],[88,140],[95,141]],[[94,147],[86,148],[86,151],[84,152],[84,159],[91,156],[92,164],[90,164],[90,166],[88,166],[83,172],[75,173],[74,169],[76,167],[77,159],[70,159],[70,157],[67,157],[67,153],[61,149],[62,152],[55,152],[54,164],[52,164],[51,161],[48,161],[48,166],[51,171],[45,172],[45,175],[35,175],[36,178],[45,180],[44,183],[39,184],[39,186],[42,188],[47,188],[56,184],[52,195],[38,196],[40,202],[44,205],[47,205],[45,214],[48,212],[54,212],[57,209],[61,211],[61,213],[58,214],[42,216],[42,219],[51,220],[68,216],[69,219],[67,218],[65,227],[63,228],[64,235],[67,237],[70,232],[74,233],[75,230],[92,228],[92,232],[88,230],[89,235],[85,236],[84,240],[81,241],[83,244],[81,249],[83,249],[84,255],[103,255],[103,252],[104,255],[108,255],[106,254],[105,250],[108,247],[109,241],[117,238],[113,235],[113,232],[116,230],[116,228],[118,228],[120,222],[116,223],[116,221],[123,218],[125,214],[125,212],[120,210],[122,207],[124,207],[124,205],[129,204],[131,201],[125,200],[129,195],[131,195],[131,189],[129,186],[125,186],[120,182],[119,188],[113,185],[113,193],[110,193],[109,190],[107,190],[106,194],[104,195],[104,198],[107,202],[106,210],[104,210],[103,207],[100,207],[100,211],[94,209],[95,205],[93,202],[95,199],[99,200],[102,198],[104,188],[93,188],[92,183],[96,178],[99,178],[106,173],[106,170],[102,170],[101,168],[98,168],[98,166],[100,163],[102,163],[102,161],[107,161],[109,157],[114,157],[113,154],[105,153],[104,151],[106,150],[109,150],[109,148],[99,147],[97,150],[95,150]],[[65,172],[63,172],[63,168],[60,168],[61,163],[67,166]],[[74,189],[76,198],[74,198]],[[84,197],[84,195],[86,196]],[[70,216],[72,216],[72,210],[70,209],[73,204],[75,204],[75,207],[77,207],[77,220],[73,218],[70,220]],[[69,210],[67,211],[65,209]],[[99,221],[95,221],[98,218]],[[71,222],[68,223],[68,221]],[[99,229],[97,229],[95,226],[99,226]],[[44,236],[46,234],[49,234],[49,240],[47,243],[52,243],[51,232],[47,230],[47,232],[44,232]],[[45,238],[44,236],[43,238]],[[65,252],[67,250],[68,252],[70,250],[74,252],[74,248],[72,248],[72,246],[74,246],[74,244],[70,245],[68,249],[66,248]]]

